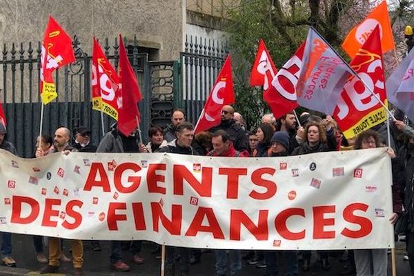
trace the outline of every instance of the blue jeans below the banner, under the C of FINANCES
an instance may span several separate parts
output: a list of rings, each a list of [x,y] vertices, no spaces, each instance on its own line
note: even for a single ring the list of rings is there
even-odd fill
[[[266,250],[264,259],[266,260],[266,276],[279,275],[279,264],[277,262],[277,254],[282,253],[284,264],[286,264],[286,276],[297,276],[299,274],[297,268],[297,253],[293,250],[277,251]]]

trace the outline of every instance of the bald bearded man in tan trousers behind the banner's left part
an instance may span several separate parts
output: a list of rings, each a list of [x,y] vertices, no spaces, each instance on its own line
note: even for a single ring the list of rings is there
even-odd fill
[[[77,151],[69,146],[70,130],[68,128],[58,128],[53,138],[53,146],[55,152]],[[37,148],[37,154],[43,156],[43,150]],[[72,247],[72,263],[75,268],[72,275],[82,275],[83,266],[83,244],[80,239],[71,240]],[[59,271],[59,259],[61,258],[61,239],[57,237],[49,237],[49,264],[41,268],[40,273],[57,273]]]

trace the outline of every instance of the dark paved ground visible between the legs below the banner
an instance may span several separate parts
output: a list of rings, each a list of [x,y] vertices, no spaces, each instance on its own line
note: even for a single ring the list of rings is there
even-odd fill
[[[103,275],[160,275],[160,260],[155,259],[155,255],[152,255],[150,252],[154,249],[154,244],[149,242],[144,242],[142,255],[145,259],[145,263],[142,265],[132,264],[130,261],[131,254],[128,251],[124,251],[125,260],[131,266],[131,270],[128,273],[115,273],[110,270],[109,266],[109,242],[101,242],[102,251],[93,252],[90,250],[90,243],[84,242],[84,259],[85,266],[83,268],[84,275],[86,276],[103,276]],[[66,255],[70,256],[68,253],[69,243],[66,241]],[[408,267],[408,262],[403,261],[404,253],[404,244],[397,244],[397,275],[409,276],[410,270]],[[6,268],[5,266],[0,266],[0,275],[39,275],[38,270],[41,268],[36,260],[32,238],[30,236],[24,235],[13,235],[13,253],[12,256],[17,262],[17,268]],[[390,257],[391,258],[391,257]],[[339,262],[339,257],[331,257],[331,270],[324,271],[319,263],[316,262],[316,254],[312,255],[311,260],[311,270],[307,273],[302,271],[299,272],[299,275],[310,276],[310,275],[322,275],[322,276],[331,276],[339,275],[341,271],[342,264]],[[213,253],[204,253],[201,257],[201,263],[191,266],[190,275],[195,276],[214,276],[214,263],[215,257]],[[388,262],[390,264],[391,262]],[[71,264],[62,264],[61,265],[61,274],[55,275],[70,275],[72,269]],[[256,268],[255,266],[243,264],[242,272],[240,276],[261,276],[264,275],[264,268]],[[284,275],[284,267],[282,264],[282,269],[280,275]],[[388,275],[391,275],[391,268],[389,269]]]

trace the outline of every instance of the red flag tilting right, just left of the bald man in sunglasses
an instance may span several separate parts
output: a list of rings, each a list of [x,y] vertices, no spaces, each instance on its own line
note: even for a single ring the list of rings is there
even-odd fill
[[[204,104],[195,126],[195,133],[218,126],[221,122],[221,108],[235,102],[230,55],[224,61],[214,86]]]

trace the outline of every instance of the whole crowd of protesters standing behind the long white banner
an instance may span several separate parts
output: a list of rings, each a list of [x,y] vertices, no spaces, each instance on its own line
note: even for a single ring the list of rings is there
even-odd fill
[[[414,130],[404,124],[400,113],[391,122],[391,146],[387,152],[392,158],[393,168],[393,214],[390,223],[406,221],[399,225],[396,235],[406,236],[406,254],[411,271],[414,272]],[[299,120],[299,121],[298,121]],[[17,154],[16,149],[6,141],[6,127],[0,124],[0,148]],[[335,120],[302,113],[299,117],[289,112],[276,120],[271,114],[262,117],[256,130],[248,131],[242,115],[232,106],[221,109],[221,124],[208,131],[194,135],[193,124],[186,121],[183,110],[174,110],[171,124],[161,128],[152,126],[148,132],[149,142],[144,145],[137,139],[137,133],[128,137],[119,132],[116,126],[101,140],[99,146],[93,146],[91,131],[79,127],[70,132],[68,128],[58,128],[53,137],[42,135],[36,141],[34,158],[43,157],[50,152],[172,152],[182,155],[208,155],[210,157],[284,157],[288,155],[306,155],[314,152],[335,150],[358,150],[386,146],[386,126],[375,130],[366,130],[354,139],[345,139]],[[71,142],[72,141],[72,142]],[[404,212],[403,212],[404,210]],[[404,217],[404,219],[402,219]],[[11,234],[2,233],[1,254],[6,266],[16,266],[11,257]],[[62,250],[61,239],[48,238],[48,252],[43,250],[43,237],[34,236],[33,244],[39,263],[44,264],[40,273],[57,273],[60,262],[72,262],[73,275],[82,275],[83,243],[71,242],[72,259]],[[91,242],[94,251],[101,250],[99,242]],[[144,264],[141,257],[141,241],[110,242],[108,264],[112,270],[128,271],[130,266],[124,261],[122,249],[132,251],[132,262]],[[157,247],[155,253],[159,253]],[[278,275],[280,263],[288,264],[286,275],[299,275],[300,270],[311,269],[311,255],[316,255],[324,270],[330,270],[332,252],[327,250],[295,251],[283,253],[277,250],[215,250],[216,275],[238,275],[243,262],[261,268],[267,276]],[[335,255],[338,255],[335,253]],[[341,255],[343,270],[341,275],[386,275],[387,250],[345,250]],[[48,257],[46,257],[48,256]],[[201,250],[166,246],[165,275],[197,275],[191,271],[191,264],[202,262]],[[228,264],[230,262],[230,264]],[[229,271],[227,271],[229,270]]]

